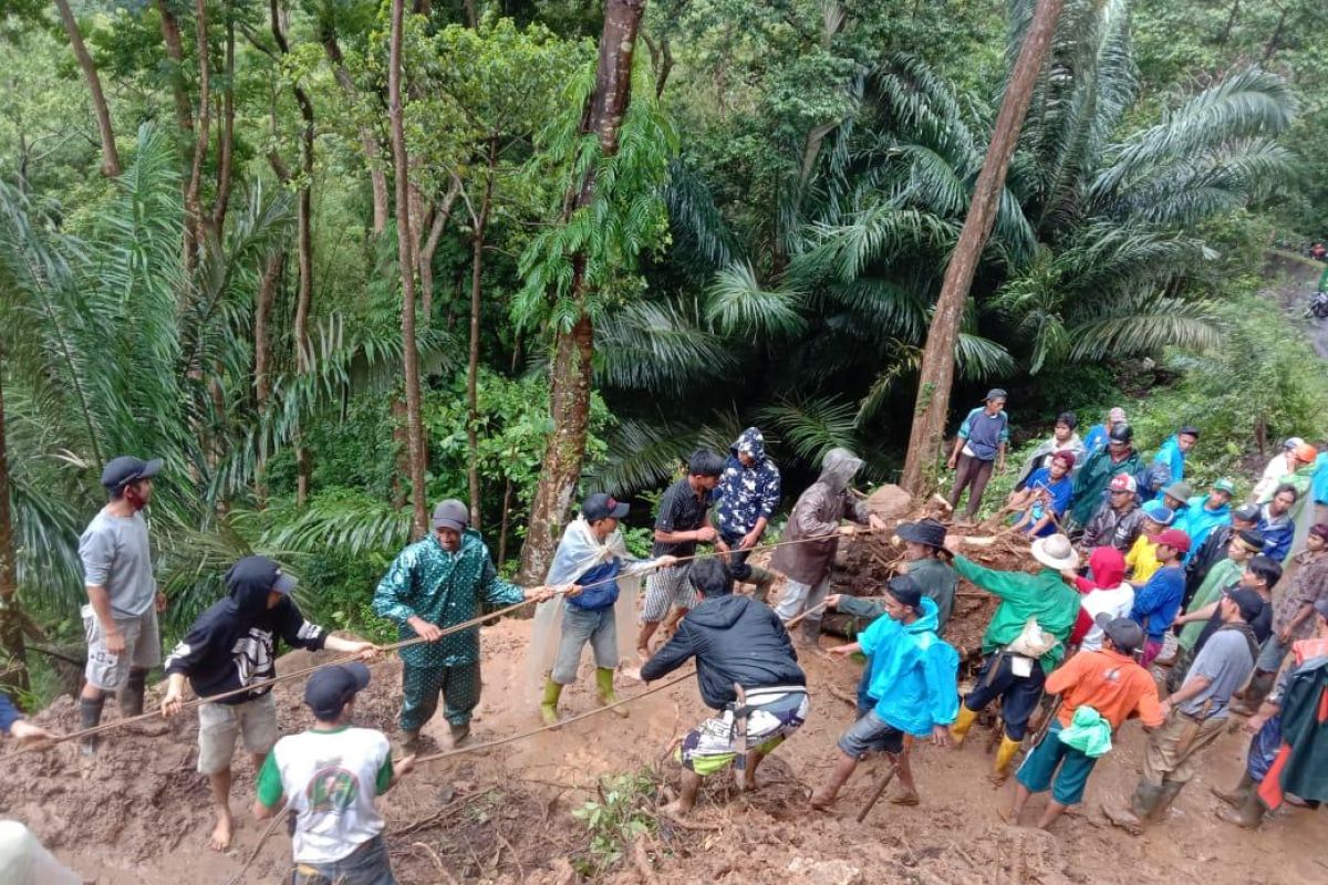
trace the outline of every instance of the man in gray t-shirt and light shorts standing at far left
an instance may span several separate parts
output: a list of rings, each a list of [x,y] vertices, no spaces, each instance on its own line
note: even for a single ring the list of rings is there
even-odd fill
[[[159,459],[113,458],[101,472],[109,500],[78,539],[88,605],[82,608],[88,637],[86,682],[78,699],[82,727],[101,722],[106,695],[120,697],[121,713],[143,711],[147,670],[161,663],[157,616],[166,596],[153,577],[151,551],[143,508],[153,499]],[[97,752],[97,738],[82,739],[84,755]]]

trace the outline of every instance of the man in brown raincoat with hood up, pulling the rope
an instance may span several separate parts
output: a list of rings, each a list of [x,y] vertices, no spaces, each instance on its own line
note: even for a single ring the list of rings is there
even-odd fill
[[[780,539],[784,545],[770,560],[770,568],[789,579],[774,612],[788,622],[806,610],[802,641],[810,645],[815,645],[821,636],[821,612],[813,609],[818,609],[830,589],[830,565],[839,549],[838,536],[855,532],[851,525],[841,527],[839,520],[850,519],[872,529],[884,528],[880,517],[867,510],[866,502],[857,500],[849,488],[861,468],[862,459],[847,448],[826,452],[821,462],[821,478],[798,496]],[[807,540],[811,537],[821,540]]]

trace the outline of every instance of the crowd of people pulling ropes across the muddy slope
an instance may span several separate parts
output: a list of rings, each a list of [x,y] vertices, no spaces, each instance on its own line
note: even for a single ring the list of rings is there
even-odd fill
[[[954,510],[968,494],[960,523],[976,517],[988,480],[1004,467],[1005,402],[1004,390],[989,391],[959,429],[947,504]],[[615,693],[627,658],[635,654],[633,675],[645,683],[695,659],[713,715],[676,747],[683,780],[665,808],[671,815],[685,815],[703,780],[728,767],[742,788],[757,788],[761,762],[811,715],[798,654],[819,649],[829,610],[858,628],[826,651],[861,654],[866,665],[857,716],[845,722],[813,808],[830,807],[859,760],[876,752],[898,776],[891,800],[918,804],[914,744],[961,747],[984,711],[1000,730],[992,779],[1013,772],[1017,782],[1001,809],[1011,821],[1033,793],[1052,793],[1041,827],[1080,803],[1096,762],[1130,718],[1149,732],[1143,770],[1130,801],[1105,811],[1133,833],[1163,819],[1232,715],[1247,716],[1251,746],[1242,782],[1219,792],[1231,807],[1224,820],[1258,827],[1283,803],[1328,799],[1320,750],[1328,734],[1328,456],[1288,439],[1250,500],[1232,506],[1234,480],[1197,494],[1186,479],[1197,427],[1178,427],[1147,459],[1122,409],[1082,439],[1077,427],[1073,413],[1058,415],[999,511],[1001,532],[1029,537],[1028,568],[992,569],[965,557],[942,511],[894,527],[902,567],[875,597],[831,586],[841,540],[886,528],[853,488],[862,460],[843,448],[825,455],[818,479],[793,503],[769,564],[750,561],[782,496],[778,466],[756,427],[726,455],[691,456],[659,500],[648,557],[624,543],[628,506],[588,495],[539,586],[502,579],[470,508],[442,502],[432,533],[400,552],[372,600],[406,644],[396,760],[384,734],[352,724],[356,693],[369,679],[360,663],[315,673],[305,686],[315,726],[280,736],[270,681],[282,644],[363,659],[378,650],[305,620],[292,598],[295,579],[270,559],[235,563],[227,596],[162,662],[157,618],[166,600],[142,515],[161,462],[120,456],[105,466],[108,503],[80,544],[89,600],[82,726],[100,723],[110,694],[124,715],[141,714],[146,675],[163,666],[163,715],[182,713],[186,687],[202,699],[197,768],[216,808],[214,849],[232,839],[231,763],[243,743],[259,771],[254,813],[295,812],[296,881],[390,882],[374,799],[410,771],[440,701],[450,746],[471,739],[482,681],[479,633],[470,624],[483,610],[538,602],[527,670],[550,727],[560,722],[563,689],[578,679],[587,645],[598,702],[618,715],[628,715]],[[778,576],[784,590],[772,600]],[[999,600],[964,693],[959,654],[944,638],[960,580]],[[52,738],[3,697],[0,731]],[[85,736],[82,751],[96,756],[98,738]]]

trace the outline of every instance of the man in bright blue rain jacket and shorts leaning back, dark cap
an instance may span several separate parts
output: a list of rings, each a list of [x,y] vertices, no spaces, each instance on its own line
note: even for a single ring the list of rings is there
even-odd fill
[[[870,661],[875,698],[843,736],[830,780],[811,793],[813,808],[827,808],[871,751],[898,760],[904,735],[950,743],[950,724],[959,715],[959,654],[936,636],[936,604],[922,594],[907,575],[890,579],[886,586],[886,617],[876,618],[858,634],[857,642],[829,649],[846,657],[862,651]],[[906,784],[906,788],[911,788]]]

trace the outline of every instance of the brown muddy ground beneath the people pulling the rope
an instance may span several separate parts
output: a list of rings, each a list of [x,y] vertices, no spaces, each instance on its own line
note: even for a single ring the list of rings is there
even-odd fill
[[[895,513],[891,513],[895,515]],[[1013,565],[1017,548],[980,556]],[[895,553],[887,544],[855,541],[842,557],[835,588],[872,590]],[[993,602],[960,585],[955,642],[973,651]],[[483,630],[483,699],[474,722],[479,742],[538,727],[537,699],[525,685],[525,649],[531,621],[510,620]],[[827,646],[838,640],[822,637]],[[676,783],[665,760],[671,739],[705,716],[695,681],[631,705],[631,716],[592,716],[502,747],[425,764],[385,800],[388,843],[400,881],[534,882],[615,885],[659,881],[782,882],[1060,882],[1147,885],[1203,880],[1206,885],[1260,881],[1300,885],[1328,881],[1328,812],[1289,811],[1256,833],[1216,820],[1208,789],[1230,787],[1242,772],[1246,738],[1228,734],[1206,758],[1170,819],[1139,839],[1106,824],[1104,801],[1127,799],[1137,779],[1143,735],[1127,724],[1117,748],[1097,767],[1082,807],[1053,833],[1008,827],[996,813],[1013,787],[992,787],[985,734],[975,731],[963,750],[920,746],[915,772],[923,804],[900,808],[880,801],[865,823],[854,817],[875,783],[878,764],[859,768],[835,813],[811,812],[806,796],[827,774],[838,735],[853,720],[851,698],[861,673],[853,661],[805,651],[813,715],[761,770],[761,788],[734,792],[726,775],[703,792],[695,816],[672,824],[655,813],[659,792]],[[305,666],[307,653],[287,655],[286,671]],[[563,694],[563,715],[594,709],[591,663]],[[392,661],[374,665],[361,695],[361,724],[394,735],[400,690]],[[620,695],[643,690],[622,679]],[[300,703],[303,681],[278,689],[283,730],[309,723]],[[112,714],[113,715],[113,714]],[[68,698],[39,722],[76,727]],[[446,724],[430,723],[445,746]],[[264,825],[248,813],[254,771],[238,764],[232,808],[239,829],[230,852],[207,849],[211,820],[207,787],[194,772],[195,726],[149,722],[112,732],[101,755],[85,764],[72,744],[44,755],[0,759],[5,789],[0,813],[23,820],[64,862],[105,885],[230,882],[260,841]],[[625,779],[611,780],[627,775]],[[382,801],[382,800],[380,800]],[[618,812],[592,839],[572,812],[587,801]],[[1035,799],[1028,816],[1035,817]],[[632,823],[644,825],[632,835]],[[640,829],[641,827],[636,827]],[[607,835],[606,835],[607,833]],[[628,833],[623,836],[623,833]],[[274,833],[243,882],[276,882],[290,872],[290,840]]]

